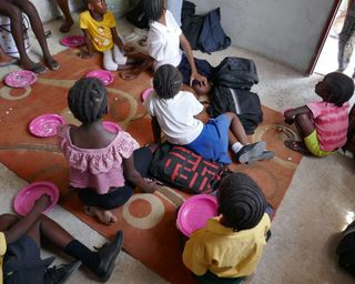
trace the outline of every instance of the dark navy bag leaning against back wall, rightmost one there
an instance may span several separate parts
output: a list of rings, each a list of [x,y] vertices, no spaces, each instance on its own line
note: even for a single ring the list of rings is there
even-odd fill
[[[221,10],[207,13],[203,19],[202,30],[197,41],[197,49],[202,52],[213,52],[226,49],[231,45],[231,38],[227,37],[221,26]]]

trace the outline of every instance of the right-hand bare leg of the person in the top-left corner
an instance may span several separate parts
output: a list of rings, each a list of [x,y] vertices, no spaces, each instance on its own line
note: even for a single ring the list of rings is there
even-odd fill
[[[43,59],[48,67],[51,70],[58,70],[59,63],[53,59],[53,57],[49,52],[43,24],[41,22],[40,16],[38,14],[36,7],[28,0],[12,0],[12,3],[19,7],[29,17],[32,30],[34,32],[36,38],[38,39],[38,42],[40,43],[40,47],[43,52]]]

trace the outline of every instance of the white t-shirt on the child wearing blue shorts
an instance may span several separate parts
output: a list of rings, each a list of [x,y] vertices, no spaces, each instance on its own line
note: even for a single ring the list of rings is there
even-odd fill
[[[155,116],[160,128],[172,144],[185,145],[202,132],[203,122],[195,119],[203,105],[193,93],[180,91],[174,98],[159,99],[155,91],[144,102],[151,116]]]

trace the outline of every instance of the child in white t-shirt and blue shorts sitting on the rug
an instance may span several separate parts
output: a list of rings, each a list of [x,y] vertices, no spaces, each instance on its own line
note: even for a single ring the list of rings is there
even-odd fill
[[[227,112],[206,124],[196,119],[203,105],[193,93],[182,91],[182,84],[180,72],[171,64],[160,67],[154,74],[155,92],[144,105],[152,116],[155,143],[161,142],[162,130],[170,143],[185,145],[206,160],[230,164],[229,143],[240,163],[272,158],[270,151],[265,151],[265,142],[247,144],[236,114]]]

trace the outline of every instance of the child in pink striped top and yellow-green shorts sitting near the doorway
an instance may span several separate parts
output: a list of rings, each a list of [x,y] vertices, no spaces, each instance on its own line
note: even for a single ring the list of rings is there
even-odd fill
[[[322,101],[284,112],[285,121],[295,122],[302,138],[302,141],[286,140],[285,145],[305,155],[326,156],[346,142],[354,82],[345,74],[328,73],[315,85],[315,93]]]

